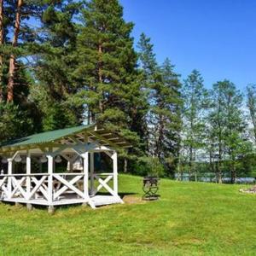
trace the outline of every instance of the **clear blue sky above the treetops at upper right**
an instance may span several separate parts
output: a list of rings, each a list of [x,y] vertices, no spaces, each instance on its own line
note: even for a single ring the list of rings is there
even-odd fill
[[[185,78],[198,69],[207,88],[230,79],[244,90],[256,84],[255,0],[120,0],[125,20],[145,32],[157,60],[169,57]]]

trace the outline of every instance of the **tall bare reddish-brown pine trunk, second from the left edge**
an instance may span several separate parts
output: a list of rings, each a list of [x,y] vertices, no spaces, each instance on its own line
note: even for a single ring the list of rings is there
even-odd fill
[[[19,32],[20,32],[20,15],[23,0],[17,0],[17,11],[15,16],[15,31],[13,36],[13,48],[17,47]],[[14,87],[15,87],[15,54],[12,53],[9,58],[9,81],[7,85],[7,102],[14,101]]]

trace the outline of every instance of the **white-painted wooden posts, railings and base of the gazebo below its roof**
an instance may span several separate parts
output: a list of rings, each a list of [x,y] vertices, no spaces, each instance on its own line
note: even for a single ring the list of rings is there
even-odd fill
[[[15,154],[9,158],[8,174],[0,177],[0,189],[3,191],[3,201],[45,206],[87,203],[92,208],[122,202],[118,196],[118,162],[117,153],[114,149],[107,145],[101,145],[98,140],[92,140],[88,136],[84,137],[84,143],[82,143],[80,139],[77,140],[75,137],[71,137],[71,139],[73,139],[74,142],[72,144],[57,145],[54,143],[52,144],[53,148],[51,148],[51,144],[49,143],[49,145],[45,145],[43,149],[42,146],[37,145],[38,148],[21,148],[20,150],[22,151],[15,152]],[[110,140],[115,141],[115,139],[118,139],[118,137],[113,137]],[[90,143],[88,143],[88,141]],[[113,173],[94,173],[95,152],[104,152],[112,158]],[[70,154],[73,153],[75,154],[71,157]],[[17,154],[26,154],[26,174],[13,174],[13,160]],[[32,173],[31,154],[36,154],[37,156],[46,154],[48,159],[48,174]],[[73,169],[73,161],[76,160],[78,156],[82,157],[84,160],[82,173],[54,173],[54,158],[57,154],[61,154],[66,160],[70,161],[71,171]],[[111,179],[113,179],[113,189],[108,185]],[[79,184],[82,183],[82,180],[84,184],[83,189],[81,189]],[[99,182],[96,188],[94,187],[95,180]],[[56,182],[60,183],[59,189],[54,187],[54,183]],[[107,189],[111,195],[107,197],[106,195],[90,197],[89,187],[90,192],[95,193],[101,189]]]

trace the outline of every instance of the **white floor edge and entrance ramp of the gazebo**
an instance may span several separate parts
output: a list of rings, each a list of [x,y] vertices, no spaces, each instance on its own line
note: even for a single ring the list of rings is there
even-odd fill
[[[52,207],[87,203],[87,201],[84,201],[84,199],[78,199],[75,195],[70,194],[61,196],[58,200],[55,200],[50,204],[49,201],[46,201],[44,198],[26,200],[23,198],[16,197],[11,199],[2,199],[2,201]],[[93,203],[95,207],[123,203],[123,201],[119,197],[115,197],[113,195],[95,195],[90,197],[90,201]]]

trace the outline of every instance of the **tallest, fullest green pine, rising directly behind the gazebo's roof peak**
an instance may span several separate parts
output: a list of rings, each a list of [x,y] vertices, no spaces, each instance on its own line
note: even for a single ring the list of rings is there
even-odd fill
[[[132,160],[143,154],[147,112],[131,38],[133,24],[125,22],[117,0],[92,0],[82,14],[76,49],[79,64],[73,72],[81,84],[77,96],[84,103],[87,123],[104,123],[133,143]]]

